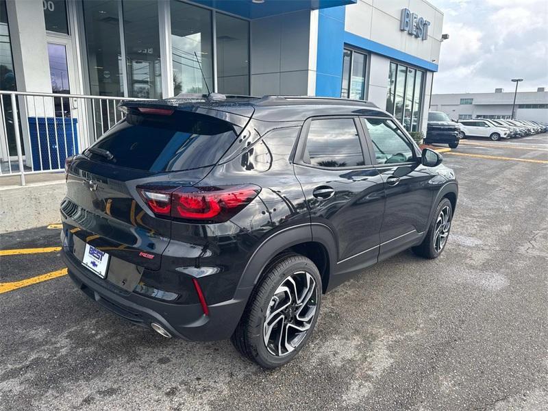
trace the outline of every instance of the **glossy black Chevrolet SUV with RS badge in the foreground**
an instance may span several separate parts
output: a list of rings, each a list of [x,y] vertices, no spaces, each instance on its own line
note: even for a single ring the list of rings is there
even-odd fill
[[[123,103],[66,164],[62,256],[88,297],[261,366],[308,342],[322,294],[443,251],[458,187],[371,103],[221,95]]]

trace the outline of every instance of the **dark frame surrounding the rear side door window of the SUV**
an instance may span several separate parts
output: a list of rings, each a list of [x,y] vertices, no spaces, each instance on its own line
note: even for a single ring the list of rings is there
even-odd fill
[[[360,142],[360,147],[362,148],[362,157],[364,158],[363,166],[346,166],[346,167],[325,167],[318,166],[316,164],[308,164],[304,162],[304,151],[306,149],[306,142],[308,141],[308,132],[310,132],[310,124],[314,120],[338,120],[338,119],[352,119],[354,122],[354,127],[356,127],[356,132],[358,132],[358,141]],[[295,156],[293,162],[299,166],[310,167],[311,169],[325,170],[325,171],[338,171],[338,170],[361,170],[361,169],[371,169],[373,164],[371,163],[371,153],[366,153],[369,151],[369,146],[367,145],[366,138],[364,135],[364,130],[361,125],[359,116],[354,115],[336,115],[336,116],[312,116],[306,119],[301,127],[299,136],[297,137],[297,149],[295,150]]]

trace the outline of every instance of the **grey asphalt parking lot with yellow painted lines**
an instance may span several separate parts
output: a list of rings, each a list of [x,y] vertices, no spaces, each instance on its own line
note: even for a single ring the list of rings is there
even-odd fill
[[[325,295],[275,371],[105,311],[49,248],[55,225],[1,235],[0,409],[547,409],[548,134],[443,155],[460,198],[442,256],[401,253]]]

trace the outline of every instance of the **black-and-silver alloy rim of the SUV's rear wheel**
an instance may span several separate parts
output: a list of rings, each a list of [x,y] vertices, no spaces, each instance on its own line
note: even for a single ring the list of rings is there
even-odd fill
[[[273,356],[283,357],[302,343],[318,301],[314,277],[306,271],[292,273],[279,284],[266,309],[262,337]]]

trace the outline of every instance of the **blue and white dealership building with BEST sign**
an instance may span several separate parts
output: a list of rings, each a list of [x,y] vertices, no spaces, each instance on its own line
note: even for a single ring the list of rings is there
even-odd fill
[[[426,127],[443,27],[423,0],[0,0],[0,17],[1,90],[343,97],[372,101],[410,131]],[[52,104],[24,114],[78,113]],[[95,110],[94,121],[114,115]],[[77,151],[92,141],[91,114],[80,113]],[[9,125],[0,134],[5,160],[14,136]]]

